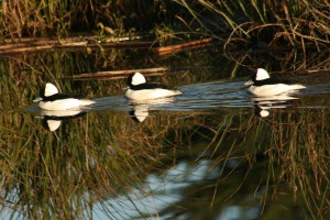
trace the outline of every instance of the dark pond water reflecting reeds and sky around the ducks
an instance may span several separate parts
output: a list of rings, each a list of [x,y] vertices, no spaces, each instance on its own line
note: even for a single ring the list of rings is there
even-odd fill
[[[244,86],[257,67],[330,64],[292,57],[217,48],[0,57],[2,218],[328,219],[330,73],[282,75],[307,88],[271,100]],[[155,66],[176,70],[147,79],[183,95],[132,103],[124,77],[62,79]],[[32,100],[46,81],[96,103],[43,111]]]

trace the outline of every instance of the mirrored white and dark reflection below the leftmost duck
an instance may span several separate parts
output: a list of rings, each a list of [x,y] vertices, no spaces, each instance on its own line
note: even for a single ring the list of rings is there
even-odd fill
[[[81,110],[42,110],[41,117],[37,118],[42,119],[42,125],[45,130],[53,132],[61,127],[62,121],[76,119],[85,114],[87,114],[87,112]]]

